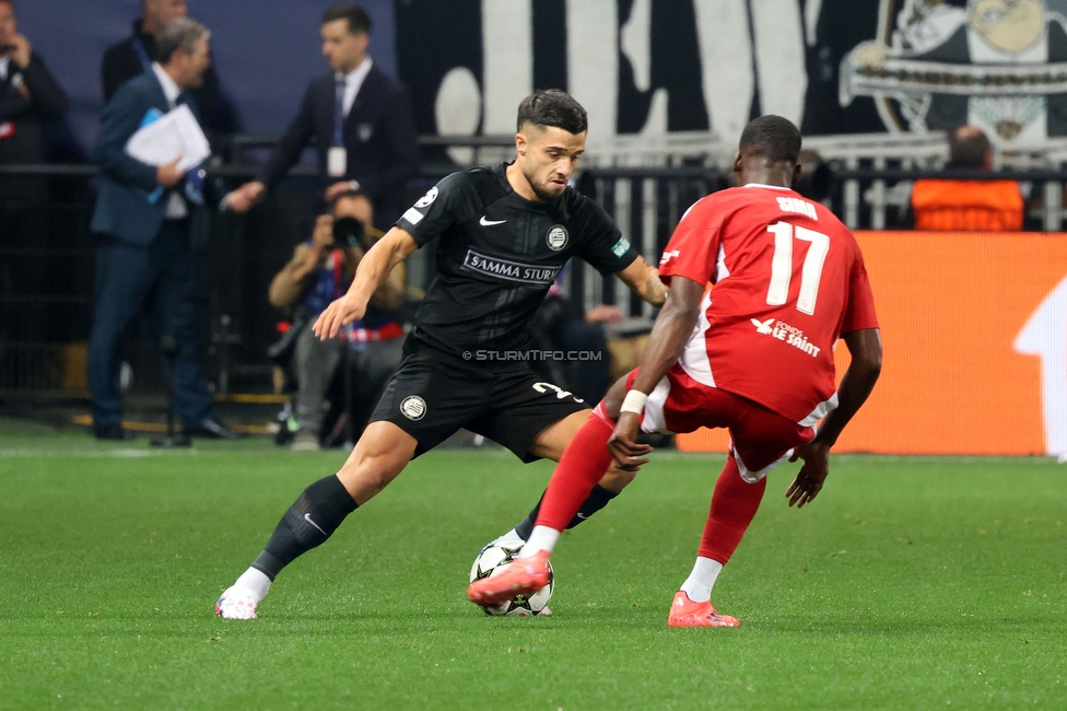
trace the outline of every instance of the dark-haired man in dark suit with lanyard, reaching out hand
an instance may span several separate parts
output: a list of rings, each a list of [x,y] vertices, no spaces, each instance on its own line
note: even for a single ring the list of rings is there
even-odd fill
[[[374,208],[374,222],[388,228],[400,217],[401,190],[418,161],[407,93],[367,55],[371,18],[360,5],[340,3],[323,15],[323,55],[330,73],[314,79],[259,179],[227,196],[230,209],[248,210],[314,145],[328,185],[327,201],[357,191]]]

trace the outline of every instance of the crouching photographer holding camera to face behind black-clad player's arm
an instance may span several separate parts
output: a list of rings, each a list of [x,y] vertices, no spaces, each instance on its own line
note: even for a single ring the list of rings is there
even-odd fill
[[[331,301],[344,294],[363,255],[374,244],[364,225],[373,223],[366,196],[343,193],[330,213],[319,215],[310,240],[296,246],[293,258],[270,283],[271,305],[291,312],[284,339],[289,372],[296,381],[293,410],[300,429],[294,452],[321,446],[327,398],[335,378],[349,369],[353,387],[347,403],[359,435],[402,357],[403,328],[396,314],[404,303],[404,266],[397,265],[374,292],[366,315],[342,329],[339,338],[319,340],[312,325]],[[275,353],[275,359],[286,353]],[[279,358],[281,357],[281,358]]]

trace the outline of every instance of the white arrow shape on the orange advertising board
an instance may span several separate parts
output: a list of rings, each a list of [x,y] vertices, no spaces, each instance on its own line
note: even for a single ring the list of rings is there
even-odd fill
[[[1031,314],[1012,347],[1041,359],[1045,451],[1067,454],[1067,277]]]

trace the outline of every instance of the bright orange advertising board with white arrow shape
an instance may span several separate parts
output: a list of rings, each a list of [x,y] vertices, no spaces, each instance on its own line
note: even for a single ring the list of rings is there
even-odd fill
[[[884,357],[839,452],[1067,452],[1067,234],[857,232]],[[848,363],[836,349],[839,378]],[[725,451],[724,431],[678,436]]]

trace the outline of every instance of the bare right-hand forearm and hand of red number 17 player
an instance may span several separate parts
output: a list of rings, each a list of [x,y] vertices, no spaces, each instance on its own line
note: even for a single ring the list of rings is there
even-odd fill
[[[826,416],[822,427],[811,442],[797,447],[789,462],[804,459],[804,465],[793,480],[785,496],[789,505],[804,506],[822,490],[822,483],[830,474],[830,447],[834,445],[842,430],[859,411],[867,396],[875,387],[882,370],[882,338],[877,328],[865,328],[845,334],[842,337],[852,362],[841,386],[837,388],[837,409]]]

